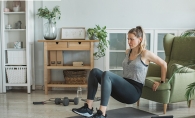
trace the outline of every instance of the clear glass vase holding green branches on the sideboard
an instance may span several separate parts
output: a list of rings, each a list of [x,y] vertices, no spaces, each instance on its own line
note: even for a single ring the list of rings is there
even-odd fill
[[[46,40],[55,40],[57,37],[56,23],[48,19],[48,22],[44,24],[44,38]]]

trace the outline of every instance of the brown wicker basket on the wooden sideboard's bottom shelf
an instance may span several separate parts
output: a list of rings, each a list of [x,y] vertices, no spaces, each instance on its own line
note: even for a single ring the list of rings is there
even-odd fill
[[[85,84],[86,70],[64,70],[64,79],[66,84]]]

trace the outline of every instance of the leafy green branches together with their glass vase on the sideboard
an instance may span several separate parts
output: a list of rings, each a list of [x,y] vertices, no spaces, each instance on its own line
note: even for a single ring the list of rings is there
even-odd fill
[[[51,11],[47,7],[39,8],[38,13],[36,15],[48,20],[48,22],[44,24],[44,38],[46,40],[56,39],[57,37],[56,20],[60,19],[61,16],[59,6],[55,6]]]

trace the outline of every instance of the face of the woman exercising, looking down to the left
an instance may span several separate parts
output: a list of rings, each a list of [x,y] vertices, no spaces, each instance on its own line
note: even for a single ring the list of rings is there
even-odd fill
[[[137,47],[141,42],[141,38],[137,38],[134,34],[128,33],[128,44],[131,49]]]

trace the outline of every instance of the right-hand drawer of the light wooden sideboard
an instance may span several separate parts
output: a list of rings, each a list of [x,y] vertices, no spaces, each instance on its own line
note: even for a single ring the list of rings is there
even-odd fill
[[[68,42],[68,49],[89,50],[90,49],[90,42]]]

